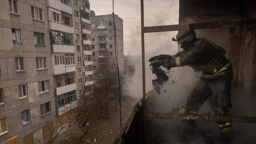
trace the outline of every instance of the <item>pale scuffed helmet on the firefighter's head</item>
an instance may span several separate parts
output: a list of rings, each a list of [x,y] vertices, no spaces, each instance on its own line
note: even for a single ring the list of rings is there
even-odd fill
[[[195,39],[195,37],[196,33],[194,30],[182,30],[178,32],[176,40],[178,41],[178,44],[180,44],[182,42],[190,42]]]

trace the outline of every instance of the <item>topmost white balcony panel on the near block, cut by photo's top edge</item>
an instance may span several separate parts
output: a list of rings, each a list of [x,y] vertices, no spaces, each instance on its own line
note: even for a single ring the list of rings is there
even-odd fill
[[[63,4],[58,0],[48,0],[48,5],[54,9],[58,9],[60,11],[65,11],[66,13],[72,14],[72,7]]]

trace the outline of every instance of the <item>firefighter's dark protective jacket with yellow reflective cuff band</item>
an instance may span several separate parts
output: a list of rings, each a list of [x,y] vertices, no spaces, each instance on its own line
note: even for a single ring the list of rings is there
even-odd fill
[[[165,59],[167,69],[177,66],[191,66],[202,71],[203,78],[217,78],[229,73],[230,63],[224,56],[226,51],[207,39],[198,39],[189,49],[185,49]]]

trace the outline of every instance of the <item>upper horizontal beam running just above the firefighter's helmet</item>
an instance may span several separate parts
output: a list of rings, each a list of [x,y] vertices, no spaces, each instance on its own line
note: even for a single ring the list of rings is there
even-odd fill
[[[144,28],[144,33],[154,33],[163,31],[180,31],[180,30],[197,30],[197,29],[209,29],[209,28],[228,28],[235,26],[246,26],[256,24],[256,19],[241,19],[241,20],[229,20],[219,22],[202,22],[193,24],[175,24],[168,26],[149,26]]]

